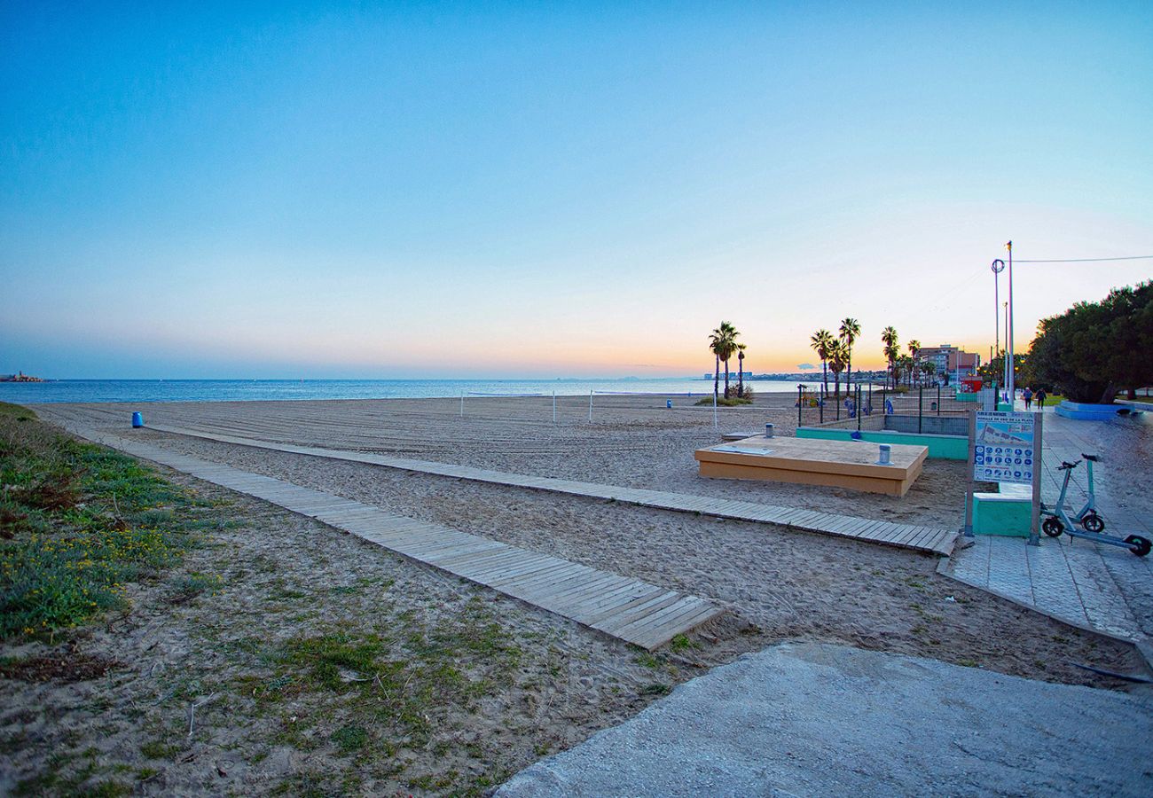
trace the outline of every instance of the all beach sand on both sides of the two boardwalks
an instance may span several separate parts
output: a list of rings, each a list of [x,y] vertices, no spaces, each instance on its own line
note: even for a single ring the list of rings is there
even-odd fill
[[[789,429],[790,407],[774,407],[764,398],[759,402],[726,413],[722,429],[755,428],[766,419]],[[234,522],[212,532],[186,565],[219,574],[221,587],[193,604],[171,603],[179,574],[134,588],[134,612],[69,643],[74,653],[116,662],[108,677],[30,686],[0,680],[7,707],[0,731],[25,741],[15,762],[21,773],[47,767],[53,752],[84,751],[96,752],[84,755],[108,767],[129,762],[141,774],[155,771],[138,776],[145,795],[480,792],[634,715],[707,668],[785,640],[847,643],[1116,690],[1130,685],[1072,663],[1141,670],[1131,646],[948,580],[935,572],[937,559],[922,554],[773,525],[133,431],[129,419],[133,409],[142,409],[157,423],[269,441],[941,525],[955,522],[960,502],[955,464],[930,461],[905,499],[703,480],[695,475],[692,452],[716,441],[710,412],[670,414],[663,401],[630,406],[618,400],[590,426],[586,399],[585,421],[570,408],[556,427],[551,407],[537,408],[549,411],[547,421],[528,421],[517,401],[476,402],[466,407],[464,420],[459,401],[443,400],[36,409],[47,421],[106,427],[172,451],[692,593],[730,611],[680,645],[649,655],[323,524],[161,468],[205,499],[228,502],[225,512]],[[488,630],[485,635],[517,655],[462,649],[453,662],[484,685],[484,693],[430,701],[427,738],[394,731],[391,699],[385,695],[382,706],[371,688],[333,695],[299,682],[281,687],[273,679],[277,657],[293,639],[384,634],[395,646],[412,646],[414,639],[423,646],[421,640],[475,641],[477,630]],[[16,653],[42,648],[35,643]],[[212,695],[188,735],[189,705]],[[355,756],[342,753],[334,740],[353,727],[380,743]],[[159,743],[168,746],[160,759],[142,753]],[[76,756],[74,765],[85,761]]]

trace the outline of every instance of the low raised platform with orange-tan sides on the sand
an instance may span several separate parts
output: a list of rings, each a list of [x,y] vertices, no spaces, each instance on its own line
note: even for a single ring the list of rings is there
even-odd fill
[[[876,444],[759,435],[698,449],[695,458],[701,476],[819,484],[904,496],[921,475],[928,451],[927,446],[892,444],[891,465],[879,466]]]

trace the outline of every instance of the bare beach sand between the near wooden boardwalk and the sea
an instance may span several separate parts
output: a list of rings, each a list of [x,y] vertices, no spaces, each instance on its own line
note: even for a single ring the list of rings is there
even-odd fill
[[[669,412],[654,397],[615,397],[594,422],[565,404],[551,423],[551,399],[197,402],[144,406],[149,420],[264,441],[402,454],[414,459],[741,498],[846,514],[955,526],[963,465],[929,460],[904,498],[783,483],[707,480],[693,450],[715,443],[711,408]],[[796,424],[789,394],[722,408],[721,429],[769,421]],[[136,407],[52,405],[45,417],[73,419],[125,434]],[[533,415],[547,417],[533,417]],[[791,422],[790,422],[791,420]],[[779,527],[721,521],[580,497],[476,483],[377,466],[236,446],[195,437],[130,431],[175,452],[285,479],[556,555],[730,607],[756,634],[731,654],[802,638],[935,656],[1004,672],[1078,684],[1100,678],[1069,665],[1069,627],[939,577],[936,559]],[[988,630],[1001,630],[990,637]],[[1078,633],[1079,634],[1079,633]],[[1085,635],[1088,640],[1094,635]],[[1099,658],[1100,641],[1079,656]],[[1061,654],[1057,654],[1060,648]],[[1050,650],[1052,649],[1052,650]],[[1094,650],[1095,649],[1095,653]],[[1138,668],[1126,647],[1109,645],[1113,665]],[[722,655],[724,656],[724,655]]]

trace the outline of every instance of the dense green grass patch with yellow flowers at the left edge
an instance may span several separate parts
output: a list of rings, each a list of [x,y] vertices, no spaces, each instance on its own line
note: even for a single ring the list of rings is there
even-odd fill
[[[195,506],[131,458],[0,405],[0,639],[122,607],[128,582],[180,562]]]

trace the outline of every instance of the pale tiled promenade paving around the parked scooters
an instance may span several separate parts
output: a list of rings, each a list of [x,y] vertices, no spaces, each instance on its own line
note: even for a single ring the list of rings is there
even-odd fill
[[[1018,408],[1024,409],[1024,408]],[[1073,421],[1045,414],[1042,498],[1055,504],[1060,494],[1056,466],[1101,454],[1094,473],[1098,506],[1106,532],[1137,533],[1153,540],[1150,458],[1153,424],[1139,419]],[[1073,472],[1068,504],[1079,509],[1086,497],[1085,466]],[[1153,555],[1136,557],[1126,549],[1062,535],[1041,536],[1040,547],[1022,537],[979,535],[939,570],[967,585],[1032,607],[1068,623],[1141,642],[1153,637]]]

